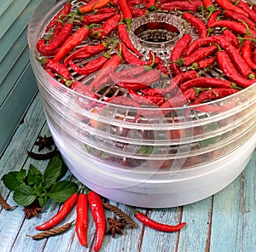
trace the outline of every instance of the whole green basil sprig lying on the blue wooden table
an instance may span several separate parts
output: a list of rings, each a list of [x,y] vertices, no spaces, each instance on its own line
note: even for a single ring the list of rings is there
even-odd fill
[[[76,183],[61,180],[66,173],[67,166],[58,153],[49,161],[44,174],[31,164],[27,171],[11,171],[3,175],[2,180],[9,190],[14,191],[14,200],[20,206],[37,201],[43,207],[49,198],[61,203],[78,191]]]

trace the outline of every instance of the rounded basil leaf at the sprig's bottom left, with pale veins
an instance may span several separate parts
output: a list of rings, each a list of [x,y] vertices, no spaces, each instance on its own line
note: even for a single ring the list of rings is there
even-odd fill
[[[28,206],[36,200],[31,186],[20,186],[14,192],[14,200],[20,206]]]

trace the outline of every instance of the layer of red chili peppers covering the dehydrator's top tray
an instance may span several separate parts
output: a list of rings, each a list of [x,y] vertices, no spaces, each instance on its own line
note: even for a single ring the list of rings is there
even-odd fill
[[[153,51],[143,55],[129,36],[134,19],[157,12],[179,15],[184,23],[167,61]],[[67,1],[38,40],[38,60],[52,77],[95,99],[112,85],[125,89],[125,99],[117,95],[104,101],[122,106],[198,105],[255,82],[255,27],[256,8],[243,1]],[[119,70],[122,64],[134,67]],[[223,72],[221,78],[205,75],[211,67]],[[89,86],[78,81],[96,72]],[[155,87],[163,77],[172,80]]]

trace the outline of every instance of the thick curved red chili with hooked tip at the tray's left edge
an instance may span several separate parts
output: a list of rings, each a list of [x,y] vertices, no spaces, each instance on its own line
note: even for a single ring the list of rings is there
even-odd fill
[[[65,26],[61,28],[61,31],[59,34],[51,41],[49,44],[44,44],[44,46],[39,46],[37,44],[37,49],[38,52],[43,54],[44,56],[46,55],[54,55],[51,54],[53,52],[56,53],[56,49],[58,49],[65,41],[67,40],[68,37],[70,37],[71,33],[73,30],[73,25],[71,23],[67,23]],[[40,40],[39,40],[40,41]]]

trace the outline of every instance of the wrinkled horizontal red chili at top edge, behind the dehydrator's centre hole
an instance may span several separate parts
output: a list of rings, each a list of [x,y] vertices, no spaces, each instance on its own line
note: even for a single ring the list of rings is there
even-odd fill
[[[183,11],[198,11],[202,7],[201,1],[173,1],[171,3],[162,3],[163,10],[183,10]]]

